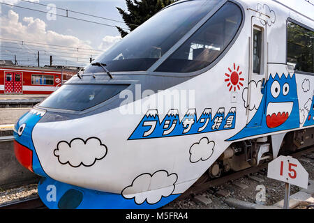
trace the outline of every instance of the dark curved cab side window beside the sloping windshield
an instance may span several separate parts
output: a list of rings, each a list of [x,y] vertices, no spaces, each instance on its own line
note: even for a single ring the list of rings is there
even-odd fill
[[[239,6],[227,2],[158,68],[157,72],[194,72],[217,59],[242,21]]]

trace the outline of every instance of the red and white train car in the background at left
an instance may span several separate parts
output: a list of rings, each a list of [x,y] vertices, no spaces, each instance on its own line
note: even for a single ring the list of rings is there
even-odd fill
[[[0,66],[0,93],[50,94],[77,73],[77,68]]]

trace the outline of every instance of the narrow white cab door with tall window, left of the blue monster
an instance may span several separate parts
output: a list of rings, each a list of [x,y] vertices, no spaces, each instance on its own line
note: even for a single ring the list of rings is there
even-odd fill
[[[253,118],[257,110],[264,112],[262,89],[267,80],[267,23],[260,18],[252,17],[251,36],[249,38],[249,77],[248,77],[248,106],[246,108],[248,128],[259,127],[260,118]],[[253,119],[252,119],[253,118]]]

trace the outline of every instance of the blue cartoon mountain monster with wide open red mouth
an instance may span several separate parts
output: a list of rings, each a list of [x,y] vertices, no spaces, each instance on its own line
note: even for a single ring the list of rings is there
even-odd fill
[[[259,134],[299,128],[299,102],[295,75],[270,75],[262,89],[262,100],[251,121],[227,139],[233,141]],[[258,125],[256,124],[258,123]]]

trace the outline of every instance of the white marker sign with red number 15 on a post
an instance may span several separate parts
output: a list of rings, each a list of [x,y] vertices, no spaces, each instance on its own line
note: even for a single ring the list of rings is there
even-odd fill
[[[291,156],[281,155],[269,162],[267,177],[285,182],[284,209],[289,209],[291,184],[308,189],[308,172]]]

